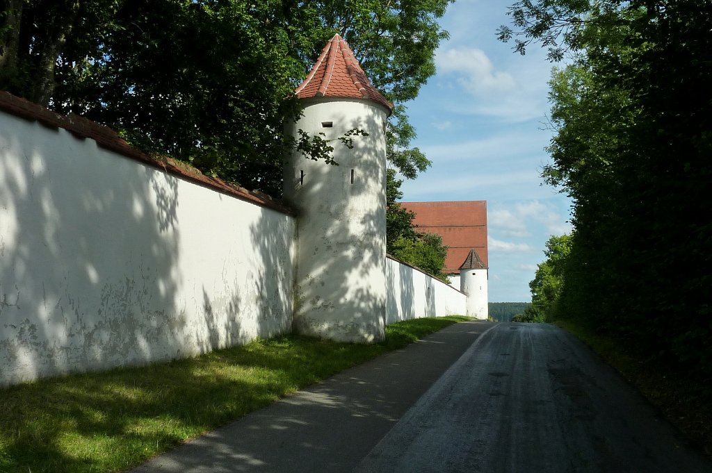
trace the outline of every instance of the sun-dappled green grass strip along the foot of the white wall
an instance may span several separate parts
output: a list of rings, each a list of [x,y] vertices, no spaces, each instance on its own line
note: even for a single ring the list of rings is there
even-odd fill
[[[0,472],[117,472],[466,317],[414,319],[381,344],[302,336],[0,390]]]

